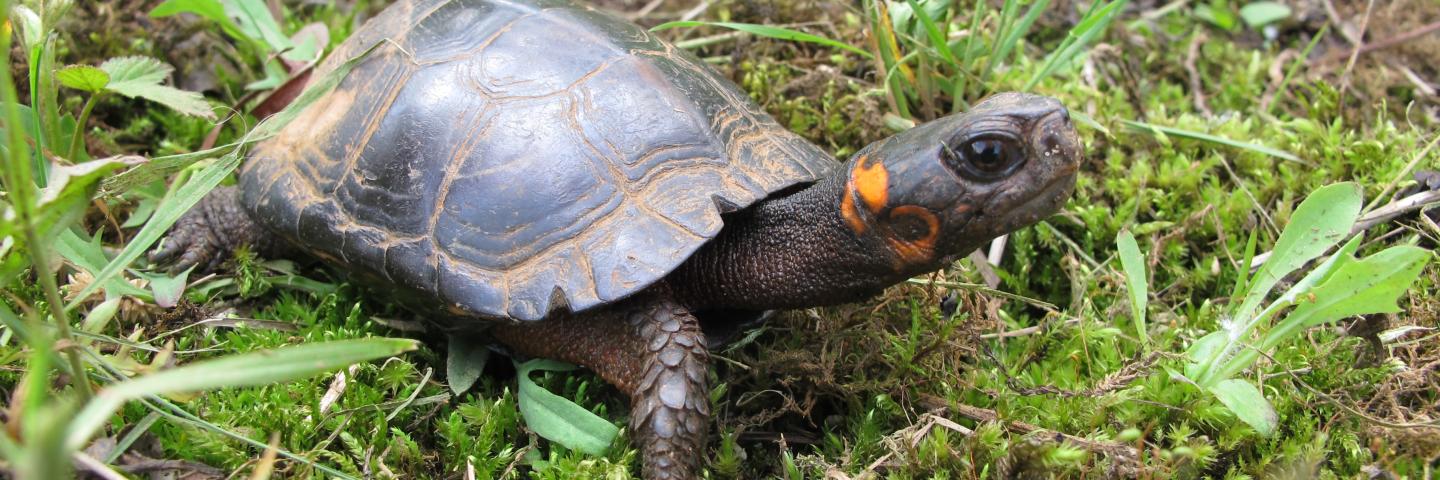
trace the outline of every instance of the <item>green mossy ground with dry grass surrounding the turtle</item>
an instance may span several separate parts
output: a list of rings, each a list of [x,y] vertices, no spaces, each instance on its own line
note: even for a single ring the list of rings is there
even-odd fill
[[[1414,16],[1377,6],[1371,29],[1390,22],[1388,30],[1372,30],[1369,39],[1440,17],[1434,3],[1395,1],[1401,3]],[[1021,88],[1083,12],[1077,9],[1087,4],[1056,1],[1012,65],[991,78],[985,89]],[[721,359],[713,378],[714,440],[706,453],[707,474],[1299,479],[1390,471],[1427,477],[1440,458],[1440,430],[1433,428],[1440,418],[1440,342],[1434,330],[1384,345],[1372,336],[1395,326],[1440,327],[1440,301],[1433,294],[1440,270],[1434,264],[1401,298],[1403,313],[1312,329],[1247,373],[1261,382],[1279,412],[1280,431],[1274,437],[1256,434],[1215,399],[1168,373],[1181,369],[1181,353],[1191,342],[1218,327],[1251,231],[1259,232],[1264,249],[1295,205],[1328,183],[1354,180],[1368,196],[1380,195],[1395,179],[1407,180],[1407,163],[1421,156],[1436,135],[1433,91],[1427,94],[1400,71],[1428,78],[1434,88],[1440,74],[1436,36],[1367,53],[1355,66],[1312,62],[1313,68],[1302,68],[1289,88],[1276,91],[1276,72],[1283,76],[1295,53],[1325,22],[1319,17],[1323,13],[1306,7],[1309,3],[1293,4],[1295,20],[1273,39],[1244,27],[1217,29],[1188,7],[1155,14],[1159,6],[1132,4],[1081,65],[1034,88],[1061,98],[1104,128],[1081,124],[1087,160],[1074,197],[1063,213],[1012,235],[995,267],[1001,290],[1057,307],[906,284],[863,304],[785,313],[717,353]],[[1346,14],[1364,14],[1364,1],[1336,4]],[[606,6],[635,12],[644,3]],[[690,7],[667,4],[641,22],[674,19]],[[65,62],[168,53],[181,82],[196,82],[192,86],[207,88],[223,102],[243,95],[238,85],[248,81],[245,61],[226,53],[184,53],[196,43],[223,43],[213,29],[145,19],[134,13],[141,9],[94,9],[85,13],[104,22],[72,26],[73,48],[62,55]],[[287,10],[285,17],[289,26],[317,19],[330,25],[336,43],[353,29],[354,19],[374,9],[367,3],[307,3]],[[863,13],[848,4],[721,1],[701,19],[802,25],[852,45],[868,42]],[[969,19],[960,14],[956,22],[968,25]],[[665,32],[675,40],[721,33]],[[1312,58],[1348,49],[1333,37],[1320,45]],[[203,50],[212,49],[196,52]],[[698,53],[783,125],[840,157],[890,134],[884,115],[891,110],[870,61],[747,36],[704,46]],[[1300,160],[1158,138],[1128,130],[1120,120],[1261,144]],[[194,150],[209,130],[203,121],[114,98],[96,110],[89,148],[96,157]],[[242,131],[230,127],[222,137]],[[1436,154],[1426,153],[1418,166],[1437,167]],[[131,212],[138,202],[112,200],[109,210]],[[91,231],[105,229],[107,241],[122,242],[128,231],[107,229],[105,223],[99,213],[88,221]],[[1149,259],[1153,294],[1148,347],[1138,340],[1125,303],[1115,258],[1120,229],[1135,232]],[[1367,251],[1397,241],[1433,248],[1440,235],[1411,218],[1380,226],[1371,236],[1384,232],[1398,234]],[[297,288],[282,281],[287,274],[276,264],[242,257],[220,272],[236,278],[233,287],[192,295],[192,303],[177,311],[130,306],[112,333],[134,340],[164,337],[157,346],[174,342],[176,352],[197,352],[176,353],[179,362],[321,339],[409,334],[372,321],[406,320],[405,311],[327,270],[300,272],[315,283]],[[930,278],[984,283],[969,259]],[[37,293],[19,294],[39,298]],[[284,329],[186,329],[226,307],[243,317],[278,321]],[[1361,334],[1367,332],[1371,337]],[[505,362],[492,362],[469,394],[449,396],[442,372],[444,342],[431,345],[353,368],[338,402],[327,408],[321,398],[333,388],[334,376],[210,392],[179,405],[261,443],[279,432],[279,445],[291,453],[361,477],[461,479],[469,477],[472,468],[475,479],[622,479],[636,471],[638,460],[626,443],[605,457],[589,457],[528,434]],[[14,382],[23,366],[13,352],[13,345],[0,347],[0,357],[9,359],[0,372],[4,383]],[[140,369],[153,360],[145,352],[128,356]],[[624,425],[625,399],[595,376],[549,373],[541,383]],[[148,412],[138,404],[128,405],[108,435],[121,435]],[[988,412],[999,419],[986,419]],[[1431,427],[1392,428],[1381,421]],[[192,473],[219,476],[246,474],[261,457],[261,450],[249,444],[170,419],[150,427],[138,445],[135,455],[180,460],[184,463],[177,466]],[[1119,453],[1126,451],[1136,457],[1122,458]],[[278,463],[276,474],[320,476],[287,460]]]

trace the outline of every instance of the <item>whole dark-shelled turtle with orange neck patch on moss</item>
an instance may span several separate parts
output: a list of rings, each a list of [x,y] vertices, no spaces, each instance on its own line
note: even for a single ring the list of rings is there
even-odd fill
[[[318,258],[451,334],[585,366],[629,396],[645,479],[700,474],[707,333],[945,268],[1057,212],[1081,159],[1060,101],[1005,92],[838,161],[564,0],[403,0],[314,78],[347,61],[151,258]]]

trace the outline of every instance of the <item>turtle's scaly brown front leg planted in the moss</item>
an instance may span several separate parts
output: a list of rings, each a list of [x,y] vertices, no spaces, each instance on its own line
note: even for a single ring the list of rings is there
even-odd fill
[[[589,368],[629,395],[644,479],[698,479],[710,425],[704,334],[668,294],[639,297],[595,314],[491,332],[518,353]]]

